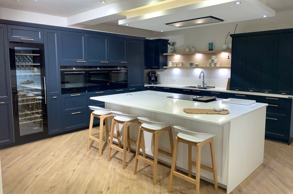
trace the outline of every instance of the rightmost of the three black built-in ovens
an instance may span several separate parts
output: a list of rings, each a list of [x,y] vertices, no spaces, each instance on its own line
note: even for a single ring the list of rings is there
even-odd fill
[[[109,67],[109,89],[122,89],[128,86],[127,66]]]

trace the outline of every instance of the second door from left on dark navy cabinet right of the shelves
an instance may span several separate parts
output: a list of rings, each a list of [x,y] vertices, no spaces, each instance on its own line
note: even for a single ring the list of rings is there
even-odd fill
[[[245,91],[259,92],[262,36],[249,36],[246,42]]]

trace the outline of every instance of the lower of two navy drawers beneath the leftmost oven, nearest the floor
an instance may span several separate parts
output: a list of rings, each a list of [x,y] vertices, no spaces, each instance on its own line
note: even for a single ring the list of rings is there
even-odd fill
[[[62,114],[63,131],[82,128],[88,126],[88,109]]]

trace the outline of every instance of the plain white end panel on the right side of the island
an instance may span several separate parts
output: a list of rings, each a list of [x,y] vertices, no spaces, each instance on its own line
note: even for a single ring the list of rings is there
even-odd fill
[[[227,193],[263,163],[266,107],[230,122]]]

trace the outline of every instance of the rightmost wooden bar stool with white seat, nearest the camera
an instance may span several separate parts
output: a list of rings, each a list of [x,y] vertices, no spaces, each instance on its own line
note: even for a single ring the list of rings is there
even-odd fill
[[[213,140],[213,137],[215,135],[207,134],[207,133],[196,133],[196,132],[190,131],[188,128],[180,127],[180,126],[174,126],[174,128],[175,128],[175,131],[178,132],[178,134],[177,134],[177,137],[175,138],[174,157],[172,159],[168,192],[171,192],[172,183],[173,183],[173,175],[174,175],[184,179],[185,181],[195,184],[195,193],[199,194],[200,193],[200,168],[213,173],[215,190],[218,190],[216,161],[215,161],[215,152],[214,152],[214,140]],[[185,176],[175,171],[179,142],[188,144],[188,176]],[[209,143],[210,150],[211,150],[212,168],[200,164],[201,149],[207,143]],[[192,146],[196,146],[196,162],[193,162],[191,159]],[[191,178],[192,165],[196,166],[196,179]]]

